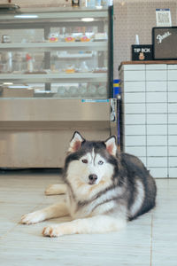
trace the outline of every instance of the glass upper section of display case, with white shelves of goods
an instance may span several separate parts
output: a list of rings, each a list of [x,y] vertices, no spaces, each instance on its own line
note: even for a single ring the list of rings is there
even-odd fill
[[[1,12],[0,97],[110,98],[110,13]]]

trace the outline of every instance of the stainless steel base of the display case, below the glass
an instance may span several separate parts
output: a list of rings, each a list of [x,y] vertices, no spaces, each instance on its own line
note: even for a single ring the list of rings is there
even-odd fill
[[[73,131],[110,136],[110,100],[0,99],[0,168],[61,168]]]

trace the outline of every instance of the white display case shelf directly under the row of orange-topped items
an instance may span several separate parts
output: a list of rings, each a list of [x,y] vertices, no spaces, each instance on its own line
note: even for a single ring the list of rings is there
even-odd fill
[[[91,51],[107,51],[108,43],[104,42],[74,42],[74,43],[0,43],[0,50],[36,50],[36,51],[53,51],[53,50],[91,50]]]

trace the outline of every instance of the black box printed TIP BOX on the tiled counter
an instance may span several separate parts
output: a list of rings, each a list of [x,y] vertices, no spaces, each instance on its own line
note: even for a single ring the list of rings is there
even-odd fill
[[[133,61],[150,61],[153,60],[151,44],[135,44],[132,45]]]

